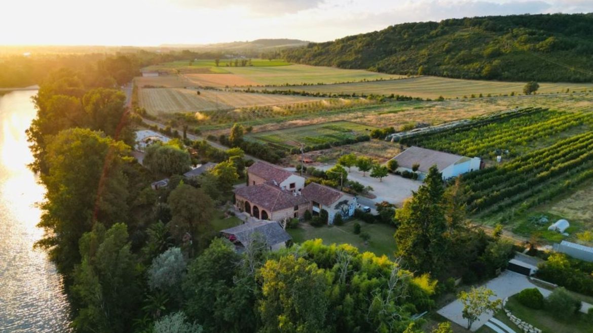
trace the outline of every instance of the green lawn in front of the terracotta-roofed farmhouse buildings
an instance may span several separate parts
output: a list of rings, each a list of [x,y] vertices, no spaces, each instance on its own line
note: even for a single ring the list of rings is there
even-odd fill
[[[361,232],[368,232],[371,235],[368,245],[365,245],[362,238],[353,232],[355,222],[361,223]],[[323,244],[326,245],[334,243],[351,244],[356,246],[361,252],[369,251],[376,255],[387,255],[391,259],[394,258],[393,252],[397,249],[396,240],[393,238],[396,228],[381,223],[369,224],[361,220],[352,219],[345,222],[342,226],[314,228],[307,222],[302,222],[299,228],[287,230],[295,243],[321,238],[323,239]]]

